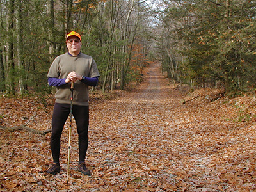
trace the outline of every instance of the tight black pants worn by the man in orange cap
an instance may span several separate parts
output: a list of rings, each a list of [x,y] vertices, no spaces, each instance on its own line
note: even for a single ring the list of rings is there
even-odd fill
[[[78,132],[79,161],[84,161],[88,148],[89,106],[73,105],[72,113],[76,120]],[[54,104],[52,115],[51,150],[53,161],[56,163],[60,161],[60,138],[69,114],[70,104]]]

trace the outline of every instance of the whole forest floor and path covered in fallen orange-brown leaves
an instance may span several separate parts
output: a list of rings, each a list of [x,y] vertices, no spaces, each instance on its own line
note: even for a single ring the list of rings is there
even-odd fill
[[[256,98],[210,102],[220,90],[183,90],[173,88],[154,63],[135,90],[111,98],[91,94],[86,164],[92,176],[76,170],[73,120],[68,184],[69,120],[57,175],[45,173],[52,162],[50,133],[0,130],[1,191],[255,191]],[[36,113],[27,127],[50,129],[53,102],[2,98],[0,125],[25,124]]]

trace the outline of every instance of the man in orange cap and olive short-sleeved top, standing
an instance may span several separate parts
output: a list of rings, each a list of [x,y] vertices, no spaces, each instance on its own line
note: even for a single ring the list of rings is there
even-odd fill
[[[60,143],[64,124],[70,114],[70,84],[74,82],[72,114],[76,120],[79,140],[78,170],[84,175],[90,171],[84,163],[88,148],[88,86],[96,86],[99,72],[91,56],[81,50],[81,35],[75,31],[68,33],[66,45],[68,52],[56,57],[47,74],[50,86],[56,86],[55,104],[52,114],[51,152],[53,163],[47,173],[55,175],[60,172]]]

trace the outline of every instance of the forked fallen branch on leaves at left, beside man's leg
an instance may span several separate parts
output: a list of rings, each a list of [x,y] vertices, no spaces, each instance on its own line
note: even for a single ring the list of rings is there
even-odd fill
[[[35,115],[36,115],[36,113],[35,113]],[[28,125],[28,123],[34,118],[35,115],[33,115],[28,120],[28,122],[26,122],[26,124],[24,124],[24,125],[20,125],[20,126],[17,126],[17,127],[4,127],[4,126],[0,125],[0,129],[2,129],[3,131],[9,131],[9,132],[15,132],[15,131],[19,131],[19,130],[24,130],[24,131],[32,132],[32,133],[35,133],[35,134],[42,134],[42,135],[45,135],[48,132],[51,132],[52,131],[51,129],[37,130],[37,129],[26,127],[26,125]]]

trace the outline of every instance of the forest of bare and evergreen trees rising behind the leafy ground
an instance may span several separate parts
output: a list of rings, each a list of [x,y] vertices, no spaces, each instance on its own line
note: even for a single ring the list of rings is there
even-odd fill
[[[65,35],[82,35],[103,92],[140,83],[143,67],[179,86],[255,89],[255,1],[44,0],[0,1],[0,90],[48,94],[47,71],[67,52]]]

